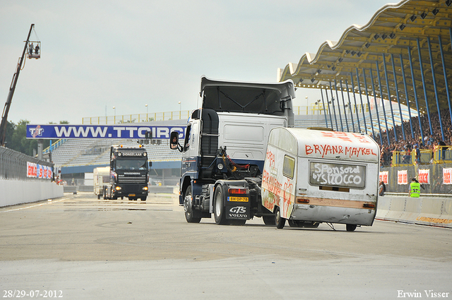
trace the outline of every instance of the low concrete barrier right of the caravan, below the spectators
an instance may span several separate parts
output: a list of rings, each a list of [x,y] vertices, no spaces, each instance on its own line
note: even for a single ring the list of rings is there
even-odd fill
[[[379,197],[376,219],[452,228],[452,198]]]

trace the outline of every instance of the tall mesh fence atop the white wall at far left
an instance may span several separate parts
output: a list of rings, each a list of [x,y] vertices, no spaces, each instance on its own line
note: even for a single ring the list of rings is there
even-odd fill
[[[37,160],[35,157],[0,147],[0,179],[18,179],[20,181],[49,181],[49,179],[38,179],[27,176],[28,162],[53,169],[54,164]]]

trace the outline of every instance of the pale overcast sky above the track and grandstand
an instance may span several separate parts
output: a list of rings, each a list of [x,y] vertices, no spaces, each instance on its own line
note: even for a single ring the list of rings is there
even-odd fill
[[[81,124],[90,116],[191,111],[201,76],[276,82],[278,68],[338,41],[350,25],[367,24],[385,4],[0,0],[0,102],[3,108],[32,23],[41,59],[26,59],[8,121]],[[295,106],[321,97],[308,89],[296,96]]]

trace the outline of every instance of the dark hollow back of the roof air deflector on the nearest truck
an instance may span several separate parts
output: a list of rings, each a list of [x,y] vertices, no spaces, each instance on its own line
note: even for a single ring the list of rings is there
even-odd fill
[[[203,108],[216,112],[246,112],[283,115],[279,90],[249,87],[206,87]]]

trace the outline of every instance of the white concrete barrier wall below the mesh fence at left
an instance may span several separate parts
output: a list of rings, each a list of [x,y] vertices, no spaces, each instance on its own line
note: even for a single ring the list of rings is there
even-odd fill
[[[49,181],[0,179],[0,207],[63,197],[63,186]]]

